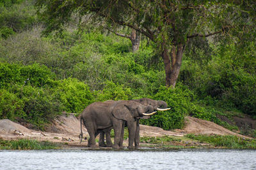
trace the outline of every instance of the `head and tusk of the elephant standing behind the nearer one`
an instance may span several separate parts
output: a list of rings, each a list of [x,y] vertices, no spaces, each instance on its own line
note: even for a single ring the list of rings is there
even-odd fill
[[[152,100],[150,98],[141,98],[137,100],[137,102],[143,105],[152,105],[155,111],[168,111],[170,109],[170,108],[167,108],[167,104],[163,100]]]

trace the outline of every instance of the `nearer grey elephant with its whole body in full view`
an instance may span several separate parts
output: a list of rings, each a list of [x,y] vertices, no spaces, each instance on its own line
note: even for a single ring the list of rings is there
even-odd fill
[[[150,112],[150,113],[147,113]],[[152,105],[142,105],[138,102],[129,100],[120,100],[117,102],[95,102],[88,105],[80,116],[80,124],[82,127],[82,121],[84,126],[88,130],[90,139],[88,140],[89,147],[97,147],[95,143],[95,137],[100,132],[106,132],[109,128],[114,128],[115,139],[113,148],[122,147],[122,137],[124,136],[124,126],[127,123],[129,130],[129,146],[128,148],[134,148],[133,143],[136,140],[138,130],[138,118],[143,115],[152,115],[154,108]],[[83,132],[79,135],[83,139]],[[110,137],[110,133],[109,133]]]

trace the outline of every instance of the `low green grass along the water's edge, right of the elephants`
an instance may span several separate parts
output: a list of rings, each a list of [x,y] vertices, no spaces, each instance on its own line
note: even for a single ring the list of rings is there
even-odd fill
[[[234,149],[256,149],[256,139],[244,139],[235,135],[186,135],[189,139],[195,139],[200,143],[210,143],[216,147]]]

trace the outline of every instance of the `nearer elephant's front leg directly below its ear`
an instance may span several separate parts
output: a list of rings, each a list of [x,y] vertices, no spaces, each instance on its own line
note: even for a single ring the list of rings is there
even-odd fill
[[[120,143],[120,138],[121,138],[122,125],[123,125],[124,121],[113,118],[112,123],[113,123],[113,128],[115,131],[115,139],[114,139],[113,148],[118,149],[119,143]]]

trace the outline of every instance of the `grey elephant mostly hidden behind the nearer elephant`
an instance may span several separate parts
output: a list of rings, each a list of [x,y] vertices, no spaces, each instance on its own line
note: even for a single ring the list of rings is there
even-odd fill
[[[113,101],[113,100],[111,100],[111,101]],[[163,100],[153,100],[151,98],[140,98],[140,99],[131,100],[131,101],[138,102],[143,105],[152,105],[152,107],[154,107],[154,111],[168,111],[170,109],[170,108],[167,108],[167,104]],[[113,102],[115,102],[115,101],[113,101]],[[149,117],[150,116],[143,116],[140,118],[147,119]],[[140,144],[140,125],[139,125],[138,119],[137,119],[136,126],[137,126],[137,128],[136,128],[137,132],[136,132],[136,137],[135,137],[135,147],[138,148],[139,144]],[[99,137],[100,146],[108,146],[108,144],[111,143],[110,132],[111,132],[111,128],[100,132],[100,137]],[[105,134],[106,134],[106,143],[107,144],[104,143],[104,135]]]

